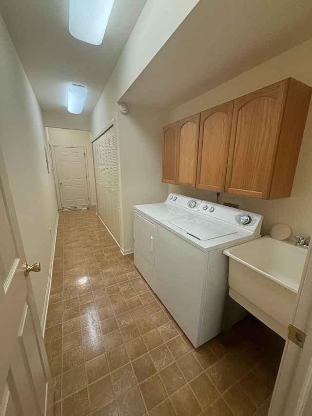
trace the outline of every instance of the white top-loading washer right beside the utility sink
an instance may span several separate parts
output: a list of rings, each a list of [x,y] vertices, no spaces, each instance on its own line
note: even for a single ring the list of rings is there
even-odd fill
[[[229,292],[224,248],[259,238],[261,223],[261,215],[209,201],[157,220],[155,292],[195,348],[223,329]],[[237,306],[233,323],[242,313]]]

